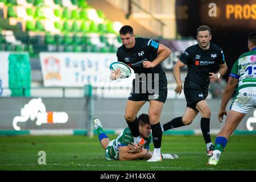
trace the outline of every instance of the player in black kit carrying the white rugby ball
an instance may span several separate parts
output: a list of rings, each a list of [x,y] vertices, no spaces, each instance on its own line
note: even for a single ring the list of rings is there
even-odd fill
[[[167,78],[160,63],[171,55],[171,50],[151,39],[135,38],[131,26],[123,26],[119,31],[123,45],[118,48],[118,61],[134,69],[135,79],[125,109],[125,120],[134,137],[139,143],[138,111],[149,101],[148,116],[152,129],[154,152],[148,162],[162,160],[160,147],[162,142],[162,129],[160,114],[167,98]],[[121,71],[112,71],[110,78],[116,80]],[[152,89],[151,89],[152,88]]]

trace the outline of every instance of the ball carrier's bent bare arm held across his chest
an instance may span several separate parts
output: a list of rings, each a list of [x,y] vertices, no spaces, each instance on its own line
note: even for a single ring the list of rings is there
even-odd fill
[[[156,67],[157,65],[162,63],[162,61],[166,60],[167,57],[171,55],[172,51],[171,51],[171,49],[164,46],[163,44],[159,44],[157,53],[158,53],[158,56],[152,62],[151,61],[144,61],[144,63],[143,63],[144,68],[154,68],[154,67]]]

